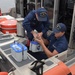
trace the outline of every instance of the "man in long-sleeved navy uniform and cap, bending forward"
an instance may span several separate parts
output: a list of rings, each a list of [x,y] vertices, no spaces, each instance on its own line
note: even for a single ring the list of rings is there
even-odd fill
[[[24,19],[23,27],[27,31],[29,40],[39,36],[46,38],[46,32],[49,30],[50,22],[45,8],[32,10]],[[38,34],[34,32],[38,31]]]

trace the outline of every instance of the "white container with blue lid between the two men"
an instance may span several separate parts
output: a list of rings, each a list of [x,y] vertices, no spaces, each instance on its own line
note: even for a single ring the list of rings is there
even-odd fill
[[[40,51],[43,51],[42,50],[42,47],[40,46],[40,44],[38,42],[36,42],[36,41],[31,41],[30,42],[29,50],[32,51],[32,52],[40,52]]]

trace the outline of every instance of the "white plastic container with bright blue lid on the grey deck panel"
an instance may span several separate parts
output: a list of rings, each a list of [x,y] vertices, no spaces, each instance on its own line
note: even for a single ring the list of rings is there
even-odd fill
[[[27,59],[27,47],[21,43],[13,43],[10,45],[11,55],[17,61],[21,62],[22,60]]]

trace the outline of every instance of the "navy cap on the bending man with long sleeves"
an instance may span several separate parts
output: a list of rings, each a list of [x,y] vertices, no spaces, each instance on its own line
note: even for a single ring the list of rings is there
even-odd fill
[[[38,8],[36,10],[39,21],[47,21],[47,10],[45,8]]]

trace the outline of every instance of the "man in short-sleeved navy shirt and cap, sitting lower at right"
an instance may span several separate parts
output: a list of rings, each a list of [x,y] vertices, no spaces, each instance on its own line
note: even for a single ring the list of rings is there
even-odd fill
[[[53,33],[48,37],[47,40],[42,39],[42,37],[39,36],[35,38],[35,40],[42,46],[43,51],[46,54],[40,54],[42,58],[44,56],[46,56],[46,58],[51,57],[67,50],[68,42],[64,35],[65,31],[66,26],[63,23],[58,23],[57,27],[53,30]],[[48,47],[46,47],[45,44],[48,45]]]

